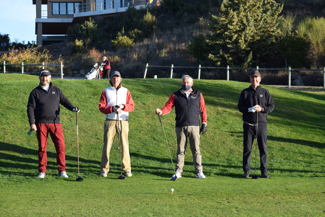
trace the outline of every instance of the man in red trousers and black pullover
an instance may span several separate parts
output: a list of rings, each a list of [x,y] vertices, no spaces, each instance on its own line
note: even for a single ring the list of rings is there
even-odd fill
[[[71,104],[60,88],[52,85],[49,70],[42,69],[39,79],[40,85],[32,90],[27,104],[30,128],[36,131],[38,140],[39,174],[37,177],[45,177],[47,137],[50,134],[57,152],[58,175],[68,178],[65,171],[65,144],[60,124],[60,104],[73,112],[79,112],[80,109]]]

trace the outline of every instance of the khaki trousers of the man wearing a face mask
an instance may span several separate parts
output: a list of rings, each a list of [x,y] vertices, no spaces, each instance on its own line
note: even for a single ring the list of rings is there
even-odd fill
[[[184,157],[189,138],[189,146],[192,151],[195,173],[202,170],[202,156],[200,152],[200,126],[176,127],[177,153],[176,169],[181,173],[184,167]]]

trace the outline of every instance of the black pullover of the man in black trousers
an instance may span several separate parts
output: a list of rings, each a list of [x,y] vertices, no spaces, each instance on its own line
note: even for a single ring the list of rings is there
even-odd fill
[[[241,91],[238,100],[238,110],[243,113],[243,121],[254,124],[256,123],[256,112],[248,112],[248,108],[259,105],[264,111],[258,114],[258,123],[267,122],[267,113],[274,109],[274,101],[267,89],[257,86],[254,90],[252,86]]]

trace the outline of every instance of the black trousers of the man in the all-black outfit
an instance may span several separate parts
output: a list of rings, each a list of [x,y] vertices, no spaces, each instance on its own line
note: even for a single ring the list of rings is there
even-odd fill
[[[251,171],[249,164],[251,159],[252,145],[256,136],[256,126],[251,126],[243,123],[243,170],[244,172]],[[262,173],[267,171],[267,125],[259,123],[257,126],[257,144],[260,151],[260,170]]]

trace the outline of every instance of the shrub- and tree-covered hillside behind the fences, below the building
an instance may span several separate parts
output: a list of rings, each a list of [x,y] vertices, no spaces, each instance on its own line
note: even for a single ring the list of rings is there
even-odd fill
[[[239,9],[233,2],[242,7]],[[121,71],[128,78],[143,77],[146,63],[164,66],[201,64],[322,68],[325,65],[324,7],[321,0],[164,0],[160,7],[147,10],[130,7],[116,16],[95,17],[77,23],[66,33],[68,42],[39,47],[38,51],[50,54],[50,62],[58,64],[63,61],[64,72],[68,76],[84,76],[79,73],[80,70],[88,72],[95,62],[101,62],[103,55],[110,60],[112,70]],[[227,15],[230,9],[233,13]],[[250,14],[256,17],[248,16]],[[236,17],[234,15],[238,19],[234,18],[232,22],[234,31],[231,35],[227,25],[221,25],[220,19],[225,19],[227,24],[227,20]],[[263,16],[266,17],[264,23],[263,19],[259,20],[261,23],[256,21]],[[224,32],[215,32],[218,25]],[[247,31],[250,34],[242,34]],[[231,38],[235,39],[231,41]],[[227,47],[232,49],[227,50]],[[27,52],[26,55],[30,54]],[[3,56],[0,61],[20,64],[22,59],[28,64],[42,62],[45,57],[18,58],[17,54],[17,57]],[[18,71],[16,68],[7,66],[8,71]],[[35,67],[25,68],[27,71],[35,70]],[[149,68],[147,77],[169,77],[169,73],[169,68]],[[174,77],[183,74],[196,77],[197,69],[178,68],[174,69],[174,73]],[[231,80],[244,81],[249,70],[231,70],[231,73]],[[262,73],[264,84],[287,84],[287,71]],[[305,77],[306,86],[323,84],[321,72],[292,73]],[[225,79],[225,75],[220,69],[202,69],[201,78]]]

